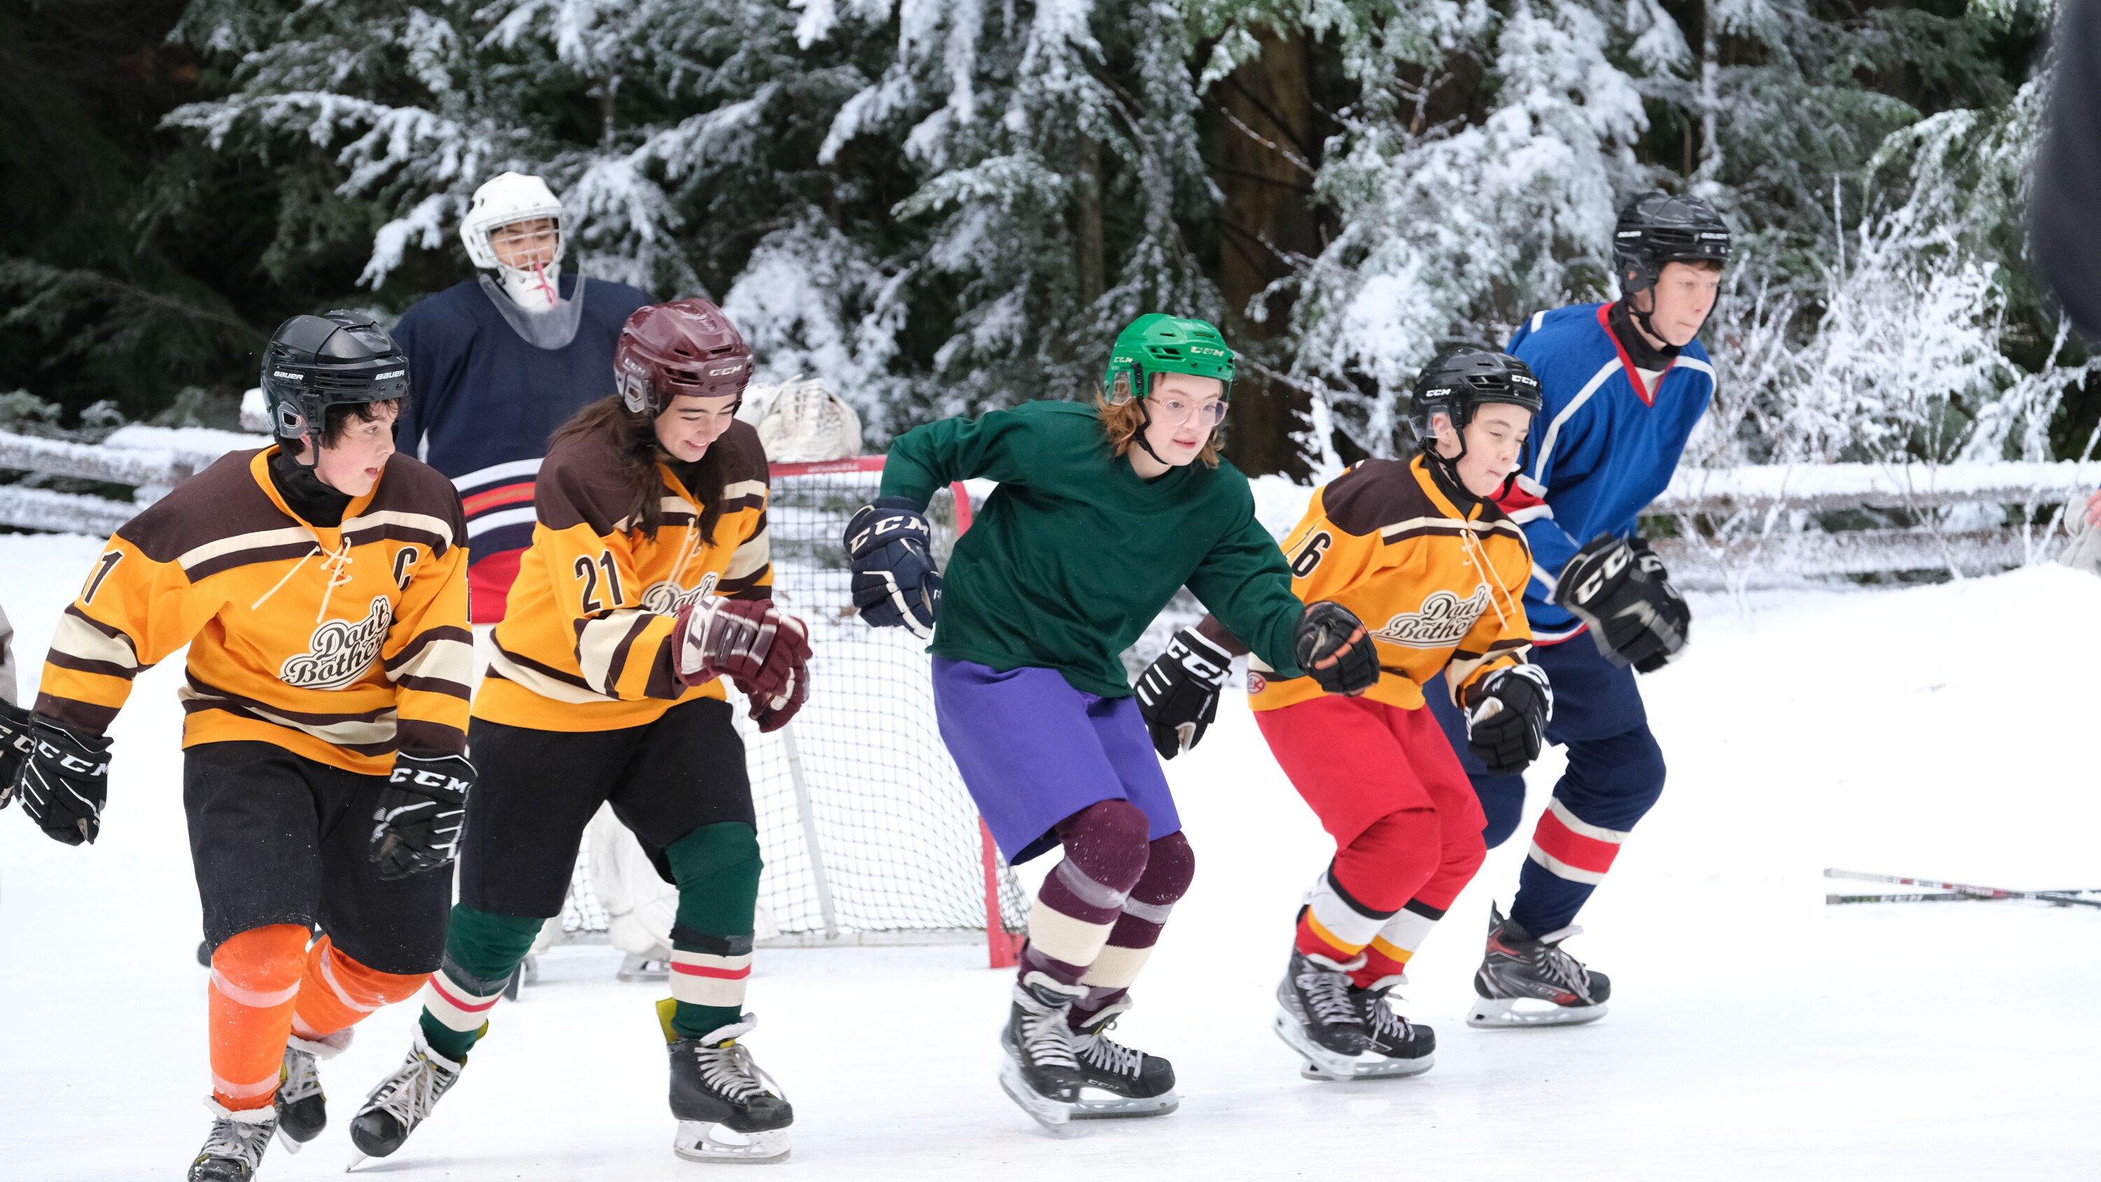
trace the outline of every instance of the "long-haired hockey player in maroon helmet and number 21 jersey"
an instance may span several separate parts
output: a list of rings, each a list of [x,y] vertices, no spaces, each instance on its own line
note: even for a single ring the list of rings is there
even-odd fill
[[[767,458],[733,418],[750,349],[714,304],[681,300],[628,317],[616,365],[620,393],[563,424],[540,468],[534,542],[475,695],[487,787],[466,804],[445,962],[408,1058],[351,1121],[370,1157],[397,1151],[460,1079],[605,802],[679,884],[672,997],[658,1006],[674,1151],[788,1155],[794,1113],[742,1041],[761,863],[721,678],[777,729],[809,693],[809,642],[773,605]]]

